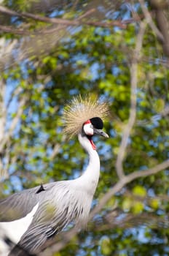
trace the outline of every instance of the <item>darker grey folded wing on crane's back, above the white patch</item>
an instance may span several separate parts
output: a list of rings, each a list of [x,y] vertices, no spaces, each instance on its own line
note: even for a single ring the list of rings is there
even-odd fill
[[[0,222],[11,222],[25,217],[52,186],[53,183],[25,189],[0,200]]]

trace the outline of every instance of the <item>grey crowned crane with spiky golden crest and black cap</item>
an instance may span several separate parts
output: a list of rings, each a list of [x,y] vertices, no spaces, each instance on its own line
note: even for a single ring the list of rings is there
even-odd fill
[[[100,159],[94,135],[109,138],[103,131],[103,118],[109,113],[106,102],[90,96],[73,97],[63,112],[63,133],[79,139],[88,154],[88,164],[78,178],[53,181],[16,192],[0,200],[0,222],[15,222],[29,215],[27,227],[9,256],[36,255],[45,244],[72,222],[84,228],[98,186]],[[15,233],[15,230],[13,230]]]

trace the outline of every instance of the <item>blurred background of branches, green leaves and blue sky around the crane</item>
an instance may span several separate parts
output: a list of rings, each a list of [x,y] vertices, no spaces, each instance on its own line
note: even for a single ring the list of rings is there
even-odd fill
[[[169,255],[168,9],[167,0],[1,1],[1,198],[78,177],[87,158],[63,134],[64,105],[78,94],[109,104],[110,138],[95,138],[93,216],[48,255]]]

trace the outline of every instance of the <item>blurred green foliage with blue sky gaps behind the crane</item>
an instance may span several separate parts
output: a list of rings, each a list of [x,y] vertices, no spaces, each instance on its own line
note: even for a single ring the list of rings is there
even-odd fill
[[[106,16],[106,8],[110,8],[114,19],[131,18],[123,1],[112,7],[107,7],[106,1],[77,2],[74,7],[71,1],[65,1],[64,9],[64,4],[58,7],[60,1],[51,1],[51,9],[45,9],[44,1],[4,1],[13,10],[28,12],[36,7],[34,12],[48,17],[78,17],[93,4],[102,11],[103,20],[110,15]],[[141,12],[137,1],[133,1],[133,9]],[[8,22],[21,26],[25,20]],[[30,31],[44,26],[34,20],[27,23]],[[31,57],[25,54],[25,59],[15,59],[1,72],[7,84],[6,97],[11,95],[7,126],[17,115],[20,99],[27,98],[9,146],[4,148],[9,151],[9,178],[1,184],[1,196],[41,183],[76,178],[82,173],[86,155],[76,138],[68,141],[62,132],[63,107],[77,94],[95,94],[109,103],[105,130],[110,138],[95,138],[101,157],[101,178],[93,205],[114,186],[118,181],[114,166],[130,112],[130,60],[138,26],[131,23],[126,29],[71,28],[49,50],[37,55],[34,52]],[[17,44],[23,41],[23,36],[10,33],[1,33],[0,39],[3,38],[8,42],[17,39]],[[24,56],[27,44],[18,49]],[[17,54],[18,49],[13,53]],[[147,26],[138,63],[136,121],[125,152],[126,174],[144,171],[168,159],[169,119],[165,110],[169,99],[169,62],[162,56],[160,42]],[[12,95],[17,88],[20,93]],[[128,184],[106,204],[87,231],[55,255],[168,255],[168,173],[164,170]]]

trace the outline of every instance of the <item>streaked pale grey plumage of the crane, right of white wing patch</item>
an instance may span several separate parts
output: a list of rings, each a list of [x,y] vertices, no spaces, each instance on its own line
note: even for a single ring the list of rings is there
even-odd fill
[[[9,256],[20,255],[20,248],[31,254],[38,254],[47,246],[50,238],[82,214],[83,208],[79,206],[76,190],[67,187],[67,184],[57,182],[55,188],[50,189],[43,202],[39,203],[28,230]]]

